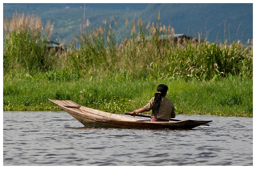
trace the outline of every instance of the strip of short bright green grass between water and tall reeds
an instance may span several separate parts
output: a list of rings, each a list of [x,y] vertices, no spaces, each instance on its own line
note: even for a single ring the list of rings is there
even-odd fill
[[[49,81],[28,76],[26,80],[4,77],[4,110],[59,110],[47,98],[73,100],[86,107],[125,113],[143,107],[157,85],[169,86],[167,97],[177,114],[253,116],[253,80],[225,78],[198,80],[93,80]]]

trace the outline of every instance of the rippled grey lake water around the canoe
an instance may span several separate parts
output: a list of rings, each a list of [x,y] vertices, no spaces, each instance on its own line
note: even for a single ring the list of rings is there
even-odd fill
[[[253,118],[177,115],[175,119],[213,122],[192,130],[86,128],[66,112],[4,111],[3,165],[253,165]]]

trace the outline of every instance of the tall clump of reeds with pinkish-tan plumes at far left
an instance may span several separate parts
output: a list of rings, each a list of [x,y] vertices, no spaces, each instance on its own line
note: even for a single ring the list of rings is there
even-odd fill
[[[4,20],[3,69],[6,71],[47,71],[53,69],[54,52],[47,52],[53,25],[45,29],[39,17],[14,12],[11,20]]]

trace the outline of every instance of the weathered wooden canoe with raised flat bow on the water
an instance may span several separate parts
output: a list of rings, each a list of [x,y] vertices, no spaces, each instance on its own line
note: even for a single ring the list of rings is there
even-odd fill
[[[71,100],[53,100],[58,107],[65,110],[84,126],[98,126],[127,129],[192,129],[211,121],[182,120],[174,122],[149,122],[141,121],[134,117],[102,112],[88,107],[83,107]]]

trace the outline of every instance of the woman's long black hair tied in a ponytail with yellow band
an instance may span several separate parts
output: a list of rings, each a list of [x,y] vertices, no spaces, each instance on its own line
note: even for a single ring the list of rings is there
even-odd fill
[[[156,93],[155,93],[155,99],[154,99],[154,105],[152,107],[152,115],[153,116],[157,115],[158,109],[160,107],[162,95],[164,95],[165,92],[167,92],[167,90],[168,90],[168,86],[166,86],[166,85],[161,84],[161,85],[157,86]]]

